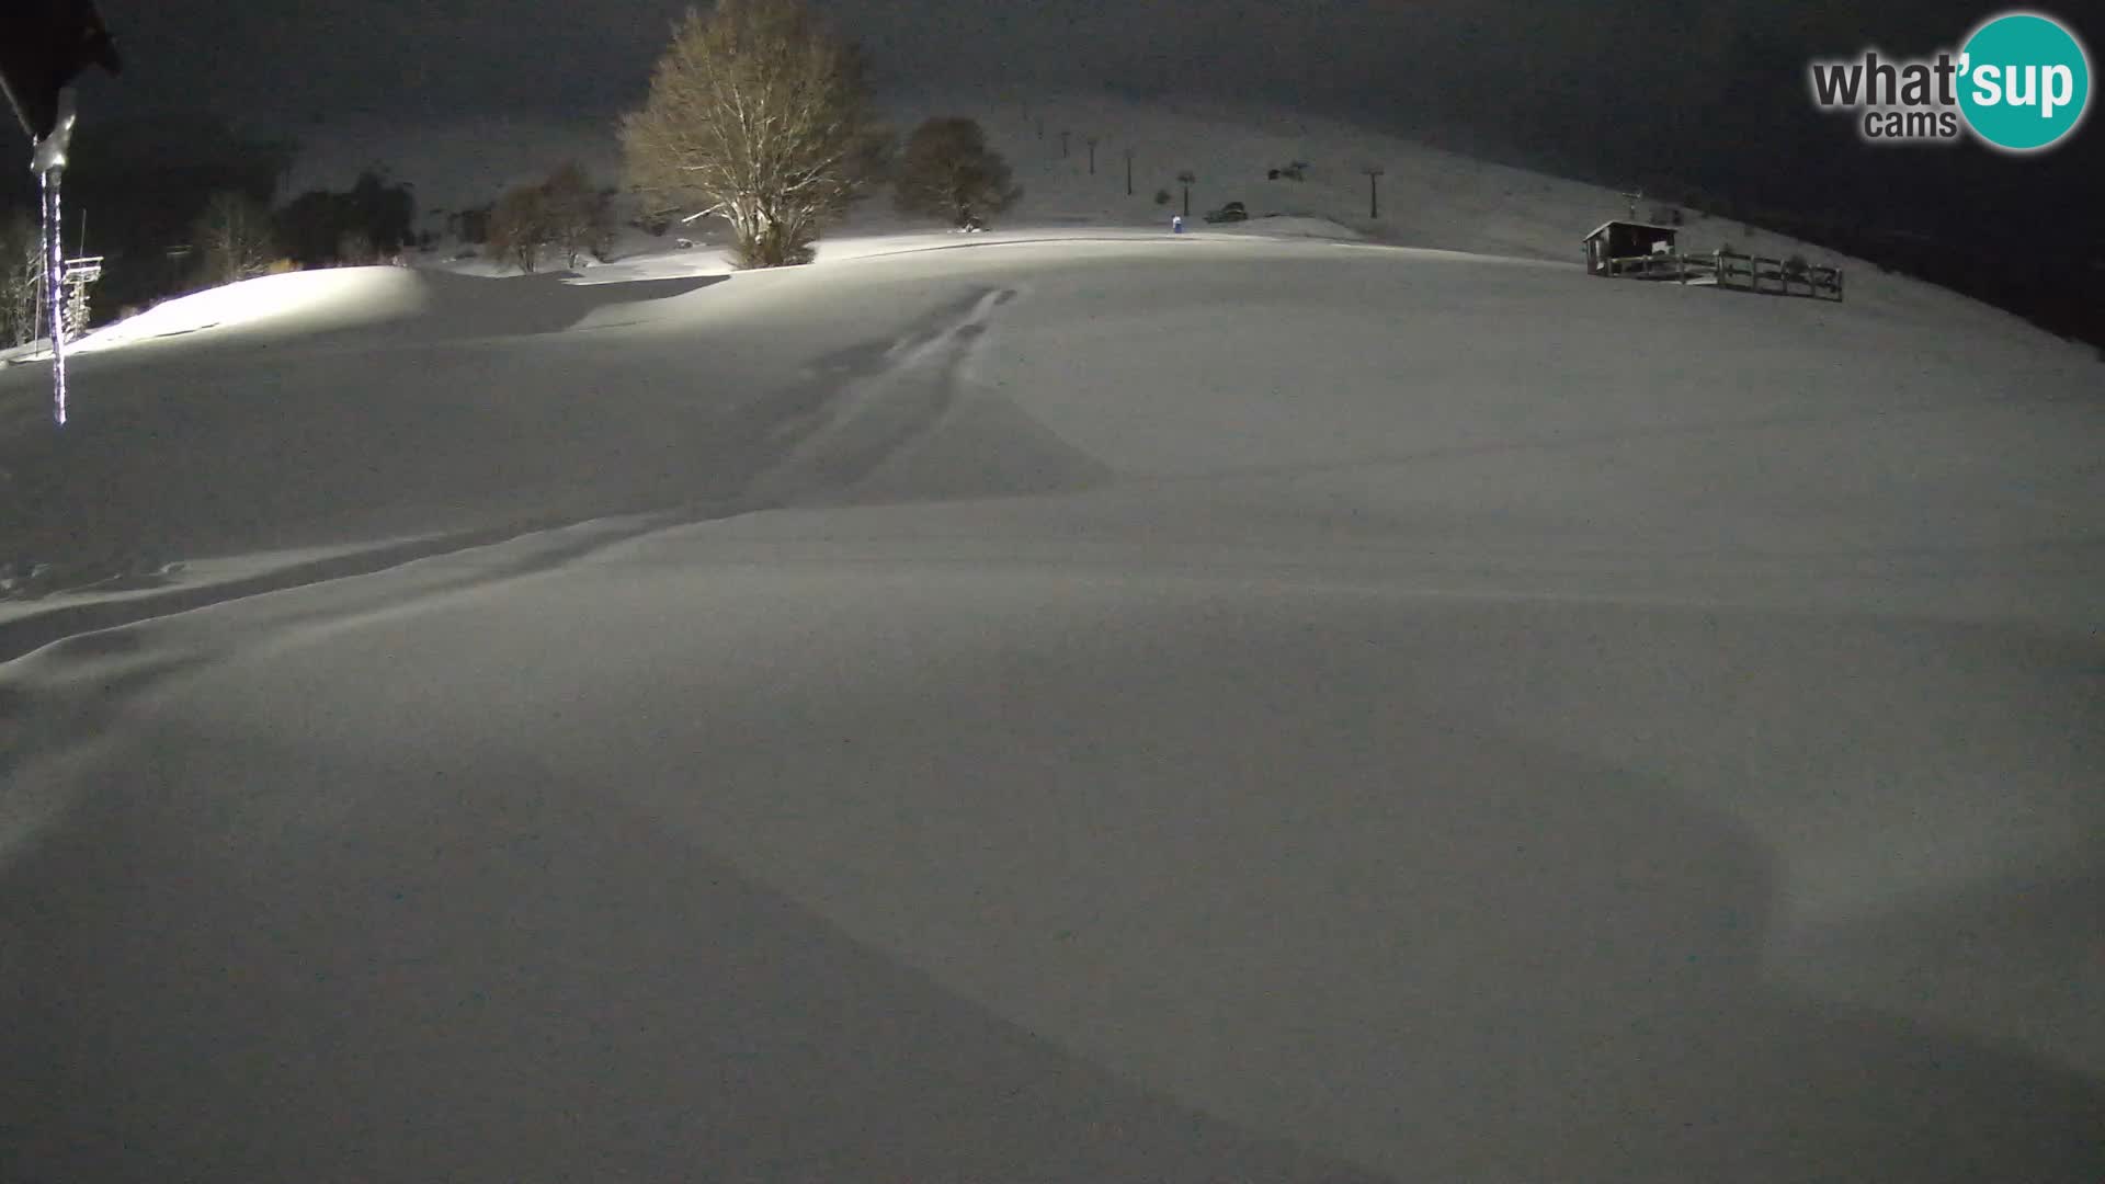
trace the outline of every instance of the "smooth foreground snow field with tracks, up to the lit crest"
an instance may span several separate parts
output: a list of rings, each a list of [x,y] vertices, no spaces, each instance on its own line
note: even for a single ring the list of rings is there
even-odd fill
[[[0,1178],[2105,1178],[2073,348],[1044,228],[160,316],[0,375],[6,548],[189,565],[0,617]]]

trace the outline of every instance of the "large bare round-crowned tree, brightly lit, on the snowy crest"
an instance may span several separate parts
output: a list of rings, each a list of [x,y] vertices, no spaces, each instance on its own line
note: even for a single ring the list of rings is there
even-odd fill
[[[690,8],[650,97],[621,118],[646,211],[726,219],[745,268],[808,261],[823,223],[880,171],[884,145],[861,55],[802,0]]]

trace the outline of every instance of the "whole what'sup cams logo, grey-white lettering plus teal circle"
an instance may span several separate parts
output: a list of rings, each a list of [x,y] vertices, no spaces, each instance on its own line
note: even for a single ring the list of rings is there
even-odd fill
[[[1962,48],[1924,59],[1815,61],[1812,103],[1850,112],[1869,143],[1939,143],[1972,133],[2000,152],[2065,143],[2090,107],[2090,57],[2076,29],[2040,13],[1981,23]]]

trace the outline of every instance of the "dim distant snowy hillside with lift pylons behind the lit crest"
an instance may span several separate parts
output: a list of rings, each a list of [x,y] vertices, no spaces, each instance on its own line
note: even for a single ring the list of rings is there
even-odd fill
[[[1156,228],[1183,209],[1179,173],[1189,171],[1194,230],[1210,234],[1271,234],[1366,238],[1402,246],[1469,251],[1549,261],[1577,261],[1579,238],[1610,217],[1623,217],[1623,194],[1560,177],[1545,177],[1476,160],[1427,143],[1349,122],[1280,114],[1219,101],[1139,103],[1099,93],[1055,93],[1019,99],[994,93],[901,93],[884,101],[886,120],[903,135],[928,116],[970,116],[987,129],[989,143],[1006,156],[1023,185],[1017,209],[996,219],[1006,230]],[[1061,131],[1067,131],[1065,152]],[[1097,137],[1090,171],[1086,139]],[[417,185],[419,209],[457,211],[486,204],[507,185],[547,175],[562,160],[579,160],[604,183],[619,179],[615,120],[465,118],[423,124],[341,122],[301,129],[305,154],[293,192],[312,185],[349,185],[360,169],[387,164],[394,177]],[[1126,192],[1126,152],[1132,152],[1132,192]],[[1269,179],[1274,169],[1303,162],[1301,181]],[[1379,217],[1372,217],[1366,169],[1381,169]],[[1170,204],[1156,194],[1168,192]],[[1240,200],[1255,223],[1202,228],[1202,215]],[[1640,200],[1640,215],[1669,206]],[[1274,215],[1267,219],[1267,215]],[[1800,242],[1768,230],[1684,211],[1682,246],[1787,257],[1848,270],[1850,293],[1882,305],[1920,308],[1958,316],[1981,331],[2031,337],[2019,318],[1991,314],[1981,303],[1905,276]],[[427,219],[432,230],[444,217]],[[821,242],[821,257],[871,251],[871,238],[941,234],[926,219],[890,209],[888,192],[859,204],[844,225]],[[678,249],[676,238],[695,242]],[[726,236],[718,221],[701,221],[665,236],[623,225],[606,278],[724,274]],[[509,268],[459,255],[459,242],[440,242],[417,257],[421,268],[465,274],[509,274]],[[600,268],[587,268],[598,276]],[[1989,324],[1996,329],[1989,329]]]

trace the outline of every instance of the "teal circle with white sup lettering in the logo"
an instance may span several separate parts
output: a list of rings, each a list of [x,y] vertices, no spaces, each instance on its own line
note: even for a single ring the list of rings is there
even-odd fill
[[[2076,34],[2038,13],[1987,21],[1960,51],[1960,112],[2004,152],[2038,152],[2084,120],[2090,57]]]

